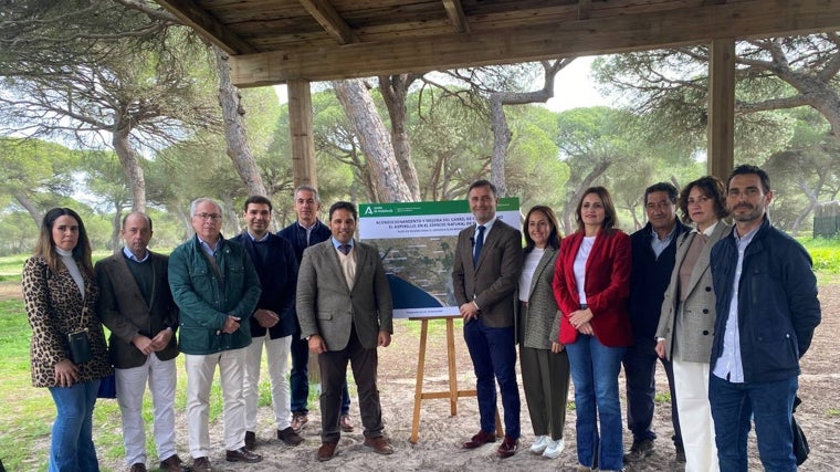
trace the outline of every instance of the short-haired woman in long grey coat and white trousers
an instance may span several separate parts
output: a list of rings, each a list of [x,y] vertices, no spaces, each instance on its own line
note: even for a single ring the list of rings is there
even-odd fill
[[[657,354],[673,361],[676,411],[685,447],[685,471],[717,471],[714,424],[708,407],[708,366],[714,337],[715,294],[708,256],[712,247],[732,232],[724,183],[702,177],[683,188],[680,211],[694,230],[676,242],[671,283],[657,328]]]

